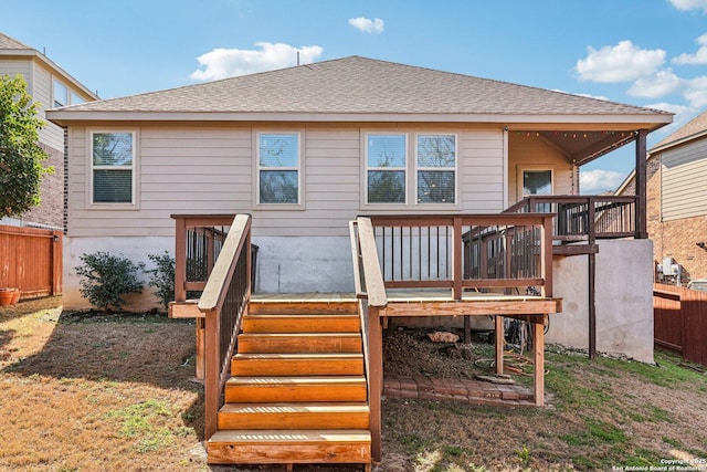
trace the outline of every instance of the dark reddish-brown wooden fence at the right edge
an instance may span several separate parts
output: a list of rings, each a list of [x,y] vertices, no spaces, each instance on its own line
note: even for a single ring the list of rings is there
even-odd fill
[[[707,292],[653,284],[655,345],[707,366]]]

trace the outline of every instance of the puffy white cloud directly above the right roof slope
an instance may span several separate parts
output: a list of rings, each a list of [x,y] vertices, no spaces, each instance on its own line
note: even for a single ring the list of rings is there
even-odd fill
[[[587,51],[587,57],[577,61],[580,81],[631,82],[653,74],[665,62],[665,51],[642,50],[631,41]]]

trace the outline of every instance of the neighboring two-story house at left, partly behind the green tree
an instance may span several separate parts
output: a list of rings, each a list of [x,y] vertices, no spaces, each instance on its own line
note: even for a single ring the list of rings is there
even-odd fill
[[[78,81],[41,52],[0,33],[0,75],[20,74],[28,84],[28,92],[41,104],[39,117],[45,119],[49,108],[97,99]],[[64,130],[46,122],[40,130],[40,145],[49,155],[45,166],[54,172],[44,175],[41,186],[41,203],[15,219],[27,225],[64,225]]]

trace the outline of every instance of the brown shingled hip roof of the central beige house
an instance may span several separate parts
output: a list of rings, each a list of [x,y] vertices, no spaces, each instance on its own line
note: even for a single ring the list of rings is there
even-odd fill
[[[82,112],[672,119],[666,112],[360,56],[92,102],[61,108],[53,117],[91,119]]]

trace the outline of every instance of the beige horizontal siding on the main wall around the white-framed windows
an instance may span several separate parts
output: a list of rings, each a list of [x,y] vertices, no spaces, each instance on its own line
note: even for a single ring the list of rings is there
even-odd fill
[[[139,126],[138,206],[117,210],[88,204],[87,133],[70,130],[68,208],[71,237],[173,235],[172,213],[253,214],[256,237],[348,234],[348,221],[373,213],[362,197],[365,135],[378,128],[355,125],[250,127],[241,125]],[[99,129],[110,129],[109,127]],[[126,129],[119,127],[115,129]],[[256,169],[253,153],[258,130],[297,130],[304,150],[304,202],[277,209],[254,202]],[[390,130],[391,126],[381,130]],[[440,133],[434,129],[400,129]],[[458,136],[458,204],[441,211],[503,210],[503,132],[445,129]],[[412,158],[412,157],[411,157]],[[412,181],[412,179],[411,179]],[[383,213],[432,212],[434,206],[412,203],[380,209]]]

